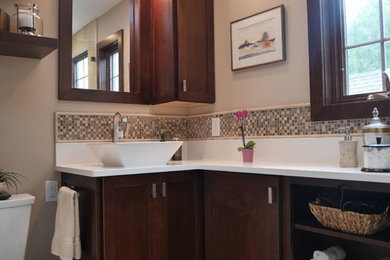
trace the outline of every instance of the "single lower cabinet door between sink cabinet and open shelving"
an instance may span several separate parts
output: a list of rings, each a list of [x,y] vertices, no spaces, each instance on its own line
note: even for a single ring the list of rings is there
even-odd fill
[[[205,174],[206,260],[280,259],[278,185],[277,177]]]

